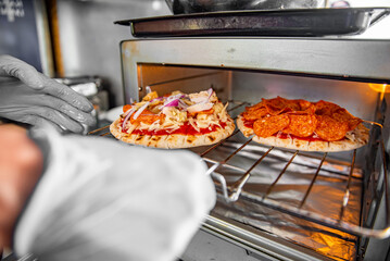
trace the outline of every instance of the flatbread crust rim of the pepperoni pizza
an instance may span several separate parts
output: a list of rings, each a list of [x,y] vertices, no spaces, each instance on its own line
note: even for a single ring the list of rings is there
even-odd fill
[[[237,119],[237,126],[246,137],[254,135],[253,129],[243,124],[241,115]],[[295,138],[278,138],[275,136],[262,138],[256,135],[254,135],[253,141],[294,150],[336,152],[357,149],[366,145],[368,138],[369,130],[361,123],[355,129],[348,132],[344,139],[338,141],[310,141]]]

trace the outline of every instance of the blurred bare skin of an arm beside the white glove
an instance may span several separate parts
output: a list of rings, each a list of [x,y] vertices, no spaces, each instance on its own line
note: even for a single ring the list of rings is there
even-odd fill
[[[10,248],[15,221],[38,181],[43,156],[16,125],[0,125],[0,249]]]

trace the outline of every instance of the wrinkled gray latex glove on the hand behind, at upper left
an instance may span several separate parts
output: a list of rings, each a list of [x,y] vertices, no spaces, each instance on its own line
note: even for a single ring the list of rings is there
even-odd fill
[[[70,87],[10,55],[0,55],[0,116],[58,130],[83,132],[93,125],[92,104]]]

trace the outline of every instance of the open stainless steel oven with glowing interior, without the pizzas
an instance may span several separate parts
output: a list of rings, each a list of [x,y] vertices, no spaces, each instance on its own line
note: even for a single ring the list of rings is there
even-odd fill
[[[192,149],[210,167],[218,202],[183,260],[388,258],[390,41],[144,38],[122,41],[121,55],[125,103],[147,86],[159,95],[212,87],[232,117],[280,96],[338,103],[370,128],[369,144],[347,152],[262,146],[239,130]]]

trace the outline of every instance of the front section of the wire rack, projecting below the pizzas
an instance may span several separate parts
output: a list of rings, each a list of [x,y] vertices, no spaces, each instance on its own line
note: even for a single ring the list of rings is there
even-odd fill
[[[235,135],[235,134],[234,134]],[[294,151],[293,154],[291,156],[291,158],[286,162],[285,167],[281,170],[281,172],[277,175],[277,177],[275,178],[275,181],[268,186],[268,188],[266,189],[266,192],[264,195],[262,195],[261,197],[259,197],[257,195],[253,195],[249,191],[246,191],[243,189],[244,185],[247,184],[249,177],[251,176],[251,171],[259,165],[267,156],[268,153],[274,150],[274,147],[268,147],[268,149],[266,150],[266,152],[261,156],[254,163],[253,165],[251,165],[249,169],[244,170],[244,169],[240,169],[234,165],[228,164],[229,159],[231,159],[235,154],[237,154],[239,151],[243,150],[246,146],[248,146],[248,144],[252,140],[252,138],[249,138],[244,144],[242,144],[235,152],[232,152],[230,156],[228,156],[225,160],[223,161],[215,161],[212,159],[209,159],[205,157],[205,154],[207,152],[210,152],[211,150],[205,151],[205,153],[202,153],[202,158],[205,162],[207,162],[211,166],[209,167],[207,174],[210,174],[214,181],[216,181],[216,186],[217,189],[219,190],[219,192],[222,194],[223,198],[227,201],[227,202],[235,202],[237,201],[240,197],[249,200],[251,202],[257,203],[260,206],[264,206],[266,208],[269,209],[274,209],[290,215],[293,215],[295,217],[299,219],[303,219],[310,222],[314,222],[317,223],[319,225],[324,225],[327,227],[331,227],[344,233],[349,233],[352,235],[356,235],[356,236],[363,236],[363,237],[374,237],[374,238],[388,238],[390,237],[390,223],[389,223],[389,197],[388,197],[388,178],[387,178],[387,171],[386,171],[386,162],[383,160],[383,187],[385,187],[385,194],[386,194],[386,213],[387,213],[387,225],[385,228],[382,229],[373,229],[373,228],[367,228],[367,227],[363,227],[361,225],[355,225],[349,222],[344,222],[342,221],[345,208],[348,206],[349,199],[350,199],[350,184],[353,177],[353,169],[355,165],[355,157],[356,157],[356,149],[353,151],[353,159],[351,162],[351,167],[350,167],[350,172],[349,172],[349,176],[348,176],[348,183],[344,189],[344,195],[342,197],[342,204],[341,208],[339,210],[339,219],[331,219],[328,216],[325,216],[323,214],[318,214],[312,211],[307,211],[304,210],[302,207],[304,206],[306,199],[310,197],[310,192],[313,188],[313,186],[315,185],[315,181],[318,177],[318,173],[322,171],[322,165],[324,163],[324,161],[326,160],[328,153],[324,153],[322,159],[320,159],[320,163],[317,167],[317,170],[315,171],[315,174],[311,181],[311,184],[309,185],[304,197],[302,198],[302,200],[300,201],[299,206],[291,206],[281,201],[277,201],[274,199],[268,198],[267,196],[271,194],[272,189],[275,187],[275,185],[277,184],[277,182],[281,178],[281,176],[286,173],[288,166],[292,163],[293,159],[300,153],[299,150]],[[226,141],[226,140],[225,140]],[[223,142],[225,142],[223,141]],[[221,145],[218,145],[221,146]],[[215,146],[216,148],[217,146]],[[383,150],[383,144],[381,142],[380,147]],[[213,149],[215,149],[213,148]],[[383,158],[385,159],[385,158]],[[227,185],[227,181],[225,178],[225,176],[221,173],[218,173],[218,169],[219,167],[227,167],[227,169],[232,169],[235,171],[240,171],[242,172],[242,176],[235,182],[232,185],[228,186]]]

